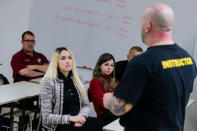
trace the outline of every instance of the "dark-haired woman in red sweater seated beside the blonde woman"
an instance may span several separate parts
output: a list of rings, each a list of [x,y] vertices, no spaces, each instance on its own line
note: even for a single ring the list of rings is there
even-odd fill
[[[117,119],[103,105],[104,93],[114,92],[114,88],[118,84],[118,81],[115,79],[114,65],[115,59],[111,54],[102,54],[96,63],[93,79],[88,89],[89,99],[93,102],[97,117],[103,120],[104,125]]]

